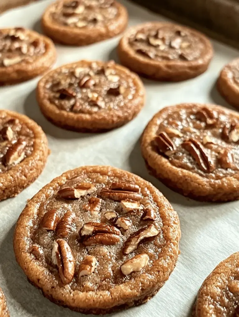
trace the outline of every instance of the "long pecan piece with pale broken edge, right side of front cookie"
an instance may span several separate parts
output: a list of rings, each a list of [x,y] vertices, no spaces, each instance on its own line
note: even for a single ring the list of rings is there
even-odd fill
[[[129,238],[126,240],[124,247],[123,247],[123,254],[127,255],[134,250],[137,249],[138,244],[145,238],[150,238],[153,236],[157,236],[159,231],[155,228],[153,224],[144,227],[137,232],[132,233]]]

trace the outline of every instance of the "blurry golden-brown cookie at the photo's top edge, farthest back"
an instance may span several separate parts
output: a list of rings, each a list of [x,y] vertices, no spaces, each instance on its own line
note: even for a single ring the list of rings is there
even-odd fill
[[[60,0],[42,17],[44,33],[66,45],[88,45],[123,32],[128,24],[126,8],[114,0]]]

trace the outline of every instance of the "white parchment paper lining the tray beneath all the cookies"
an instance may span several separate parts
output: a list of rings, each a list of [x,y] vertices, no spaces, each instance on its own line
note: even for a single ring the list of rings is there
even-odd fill
[[[10,10],[0,16],[0,27],[23,26],[40,31],[40,17],[51,2],[44,0]],[[129,25],[166,20],[132,3],[122,3],[129,10]],[[57,45],[56,66],[80,59],[117,61],[116,45],[119,38],[82,48]],[[14,226],[27,199],[54,177],[80,165],[112,165],[140,175],[163,192],[181,221],[181,254],[169,281],[148,303],[114,316],[190,316],[191,306],[204,278],[220,261],[239,251],[239,202],[199,203],[176,194],[149,176],[139,147],[139,138],[145,125],[164,106],[180,102],[213,102],[229,107],[217,93],[215,81],[223,65],[239,54],[235,49],[212,42],[215,57],[206,73],[179,83],[143,79],[147,91],[145,107],[136,119],[108,133],[74,133],[49,123],[40,113],[35,99],[39,78],[0,88],[0,108],[24,113],[35,120],[46,133],[51,149],[40,177],[17,197],[0,203],[0,286],[6,294],[11,317],[81,316],[51,303],[31,286],[15,261],[12,247]]]

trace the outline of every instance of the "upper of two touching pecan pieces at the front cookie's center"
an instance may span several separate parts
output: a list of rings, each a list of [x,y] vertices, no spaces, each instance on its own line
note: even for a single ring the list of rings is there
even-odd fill
[[[112,233],[121,236],[119,229],[106,223],[88,222],[80,230],[81,236],[89,236],[96,233]]]

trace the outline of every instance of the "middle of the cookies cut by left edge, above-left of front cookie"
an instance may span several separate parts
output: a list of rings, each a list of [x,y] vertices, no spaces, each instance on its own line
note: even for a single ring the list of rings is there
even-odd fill
[[[17,196],[41,174],[48,156],[45,133],[36,122],[0,110],[0,200]]]

